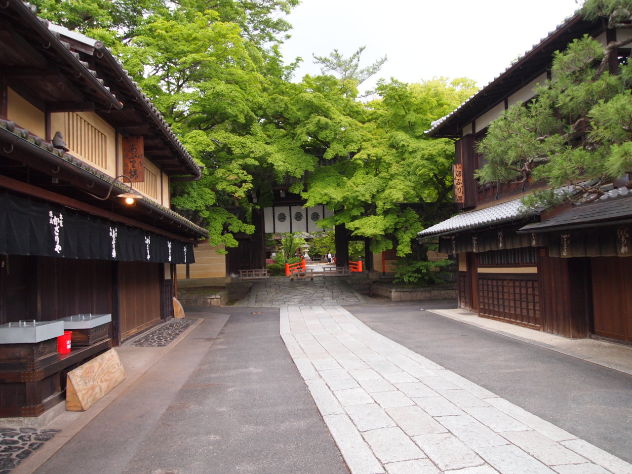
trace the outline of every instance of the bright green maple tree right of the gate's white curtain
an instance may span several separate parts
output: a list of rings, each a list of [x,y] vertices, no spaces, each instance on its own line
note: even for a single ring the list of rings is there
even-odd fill
[[[345,224],[353,235],[370,238],[374,252],[396,246],[398,255],[410,253],[416,233],[453,212],[454,145],[423,131],[473,90],[465,79],[391,80],[379,83],[379,99],[367,107],[346,99],[346,121],[327,123],[326,139],[310,150],[322,159],[303,197],[308,205],[337,210],[324,226]]]

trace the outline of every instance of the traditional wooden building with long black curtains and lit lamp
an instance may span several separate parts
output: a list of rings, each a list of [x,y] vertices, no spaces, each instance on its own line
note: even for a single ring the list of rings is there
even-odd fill
[[[200,174],[102,43],[3,1],[0,325],[107,313],[111,327],[61,358],[7,362],[0,344],[0,416],[39,415],[64,370],[173,315],[175,265],[207,233],[170,209],[169,183]]]

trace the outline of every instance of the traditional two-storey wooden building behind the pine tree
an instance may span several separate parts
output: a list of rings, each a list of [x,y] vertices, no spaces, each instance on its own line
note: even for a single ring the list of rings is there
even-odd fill
[[[566,337],[632,341],[632,193],[629,177],[592,204],[525,212],[520,198],[537,183],[482,185],[476,144],[490,122],[550,77],[554,51],[592,35],[604,45],[632,32],[574,15],[451,114],[430,137],[455,140],[454,195],[459,214],[425,229],[441,252],[458,255],[459,307],[481,317]],[[629,56],[619,51],[616,58]],[[628,265],[626,265],[626,263]]]

